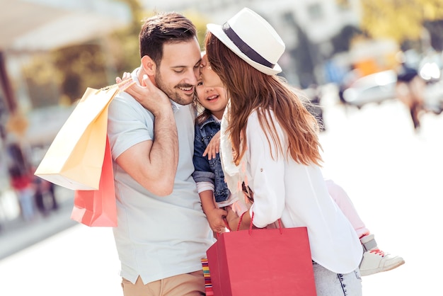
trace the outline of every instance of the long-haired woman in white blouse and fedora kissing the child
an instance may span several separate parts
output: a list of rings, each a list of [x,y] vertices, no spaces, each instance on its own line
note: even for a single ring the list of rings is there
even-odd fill
[[[226,182],[233,194],[244,182],[254,196],[242,217],[228,210],[231,229],[278,219],[284,227],[307,227],[318,295],[362,295],[362,245],[328,194],[316,120],[275,75],[280,36],[248,8],[207,28],[203,81],[225,86],[230,98],[221,135]]]

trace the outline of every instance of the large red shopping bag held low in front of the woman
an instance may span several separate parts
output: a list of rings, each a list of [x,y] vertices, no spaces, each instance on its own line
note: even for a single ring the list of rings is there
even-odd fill
[[[306,227],[224,232],[207,259],[214,296],[316,295]]]

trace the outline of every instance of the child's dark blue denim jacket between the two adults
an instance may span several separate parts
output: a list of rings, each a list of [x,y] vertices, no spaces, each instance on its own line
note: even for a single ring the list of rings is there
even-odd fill
[[[229,189],[224,181],[224,173],[220,155],[211,160],[203,157],[202,154],[212,137],[220,130],[220,123],[210,117],[200,125],[195,125],[194,139],[194,162],[195,171],[192,177],[195,182],[210,182],[214,184],[214,196],[217,203],[223,202],[229,198]]]

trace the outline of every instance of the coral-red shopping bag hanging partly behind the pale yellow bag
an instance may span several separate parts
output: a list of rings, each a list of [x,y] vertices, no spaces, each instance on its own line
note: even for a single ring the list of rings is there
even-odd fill
[[[113,160],[111,159],[108,137],[106,137],[105,144],[105,156],[98,190],[74,191],[71,219],[91,227],[117,226]]]

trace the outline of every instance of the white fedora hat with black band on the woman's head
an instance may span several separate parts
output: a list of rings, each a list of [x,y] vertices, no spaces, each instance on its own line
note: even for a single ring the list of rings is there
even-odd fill
[[[243,8],[224,25],[208,23],[207,29],[238,57],[268,75],[282,72],[277,64],[284,42],[277,32],[249,8]]]

